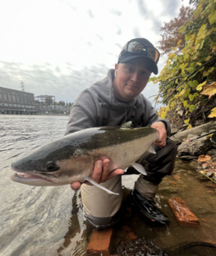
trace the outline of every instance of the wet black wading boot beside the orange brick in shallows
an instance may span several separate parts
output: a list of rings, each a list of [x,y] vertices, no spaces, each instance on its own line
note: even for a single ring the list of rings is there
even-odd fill
[[[140,194],[137,189],[134,189],[130,193],[130,199],[143,213],[143,215],[152,221],[157,221],[161,224],[166,224],[169,222],[168,216],[162,213],[158,208],[156,208],[156,202],[154,200],[148,199]]]

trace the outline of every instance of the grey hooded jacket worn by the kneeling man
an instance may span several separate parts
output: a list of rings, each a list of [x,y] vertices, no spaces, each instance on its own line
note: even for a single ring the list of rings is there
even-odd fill
[[[79,95],[71,108],[65,135],[85,128],[119,126],[125,121],[133,121],[137,127],[160,121],[142,94],[130,102],[119,102],[113,92],[113,79],[114,69],[110,69],[104,80],[94,83]],[[168,121],[165,122],[169,135],[170,126]]]

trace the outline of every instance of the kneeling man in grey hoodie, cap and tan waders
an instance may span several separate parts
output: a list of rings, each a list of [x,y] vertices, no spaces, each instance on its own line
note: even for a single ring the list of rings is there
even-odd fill
[[[156,208],[154,197],[158,184],[175,166],[176,146],[168,139],[168,121],[156,115],[150,102],[141,94],[152,72],[158,73],[159,52],[147,39],[135,38],[124,45],[115,69],[107,77],[83,91],[71,108],[66,135],[80,129],[99,126],[119,126],[133,121],[135,127],[156,128],[159,138],[155,142],[156,154],[149,154],[141,163],[146,176],[140,175],[130,197],[150,220],[165,224],[168,216]],[[119,219],[122,202],[121,169],[110,172],[110,160],[97,160],[92,179],[119,196],[107,194],[98,187],[73,182],[71,187],[81,187],[81,197],[86,220],[97,228],[114,225]]]

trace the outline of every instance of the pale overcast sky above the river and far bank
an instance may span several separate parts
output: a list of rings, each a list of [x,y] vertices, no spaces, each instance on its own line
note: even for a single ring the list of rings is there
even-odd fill
[[[114,68],[134,37],[158,46],[160,28],[189,0],[0,0],[0,86],[56,102],[79,93]],[[159,72],[166,56],[159,62]],[[149,83],[143,95],[156,95]],[[152,101],[152,98],[149,100]]]

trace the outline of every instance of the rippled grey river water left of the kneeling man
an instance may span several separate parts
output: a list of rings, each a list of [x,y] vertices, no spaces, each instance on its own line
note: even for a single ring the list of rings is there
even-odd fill
[[[77,250],[85,229],[79,196],[74,204],[69,186],[31,187],[10,180],[11,163],[63,136],[67,121],[68,116],[0,115],[0,255],[71,255]],[[70,244],[68,231],[73,233]]]

